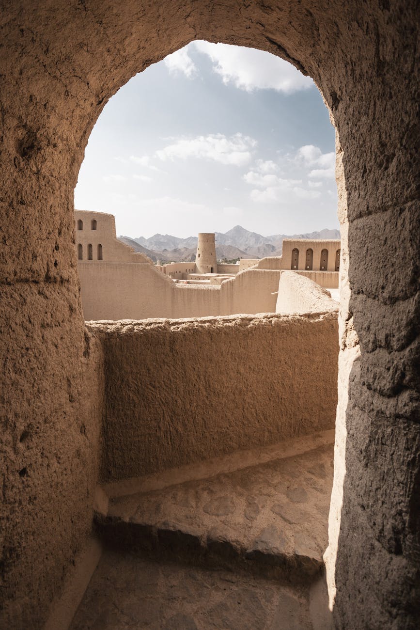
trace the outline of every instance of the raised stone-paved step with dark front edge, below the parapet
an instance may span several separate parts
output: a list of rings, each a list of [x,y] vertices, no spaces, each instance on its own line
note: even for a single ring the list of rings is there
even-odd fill
[[[240,453],[230,459],[241,466]],[[310,580],[321,571],[327,546],[331,462],[332,444],[116,497],[106,517],[98,515],[99,530],[108,544],[133,546],[155,558],[169,554],[193,563]]]

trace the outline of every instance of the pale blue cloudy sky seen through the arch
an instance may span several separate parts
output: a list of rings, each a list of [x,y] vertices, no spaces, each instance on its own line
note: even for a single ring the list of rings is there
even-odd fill
[[[131,238],[332,229],[334,160],[312,79],[268,52],[191,42],[106,104],[74,203],[115,215]]]

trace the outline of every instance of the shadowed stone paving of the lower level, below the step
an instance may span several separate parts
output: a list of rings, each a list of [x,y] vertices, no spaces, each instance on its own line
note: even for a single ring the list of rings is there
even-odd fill
[[[127,627],[312,630],[314,626],[307,590],[240,573],[156,564],[107,551],[70,630]]]

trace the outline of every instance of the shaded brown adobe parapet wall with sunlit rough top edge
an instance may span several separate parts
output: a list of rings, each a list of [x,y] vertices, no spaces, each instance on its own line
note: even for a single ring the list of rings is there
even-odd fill
[[[337,313],[88,328],[105,354],[102,481],[334,427]]]

